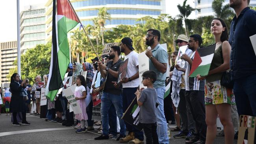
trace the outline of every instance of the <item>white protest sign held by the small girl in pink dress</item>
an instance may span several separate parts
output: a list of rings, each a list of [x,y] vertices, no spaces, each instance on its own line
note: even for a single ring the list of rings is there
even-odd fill
[[[76,101],[75,96],[74,96],[74,91],[75,91],[74,86],[64,89],[63,91],[65,92],[66,98],[69,101],[69,103],[72,107],[72,110],[74,111],[74,114],[82,113],[82,109],[81,109],[80,105],[78,104],[78,102]]]

